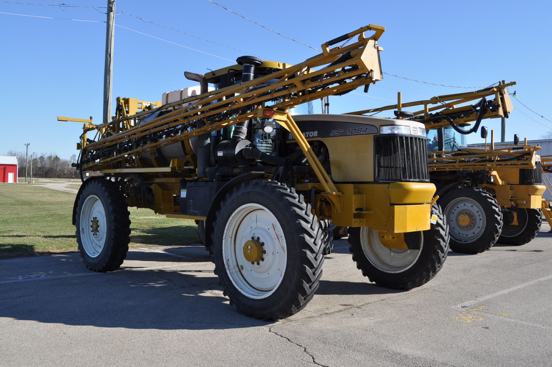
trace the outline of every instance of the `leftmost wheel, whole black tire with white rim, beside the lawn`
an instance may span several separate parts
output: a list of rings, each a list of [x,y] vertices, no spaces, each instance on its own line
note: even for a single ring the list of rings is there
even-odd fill
[[[93,271],[119,269],[130,242],[128,205],[112,181],[84,182],[77,205],[76,234],[82,261]]]

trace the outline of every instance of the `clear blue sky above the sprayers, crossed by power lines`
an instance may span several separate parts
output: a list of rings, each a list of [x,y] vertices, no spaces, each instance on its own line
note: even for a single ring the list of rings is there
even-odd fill
[[[104,7],[106,0],[70,5]],[[23,1],[21,1],[23,2]],[[41,4],[55,4],[36,0]],[[552,37],[550,1],[229,1],[218,3],[269,28],[319,48],[369,23],[383,25],[379,41],[382,68],[391,74],[455,86],[487,86],[517,81],[519,100],[552,119]],[[0,14],[0,154],[31,143],[29,151],[55,151],[68,158],[82,125],[57,122],[56,116],[102,117],[105,15],[91,8],[30,6],[0,2],[0,12],[74,20]],[[208,0],[117,0],[116,10],[232,46],[268,59],[295,64],[316,51],[229,13]],[[157,38],[204,51],[214,57],[116,27],[113,95],[157,101],[166,91],[192,85],[184,71],[204,74],[231,65],[243,53],[119,14],[115,23]],[[368,96],[333,97],[331,112],[342,113],[391,104],[396,88],[404,102],[465,91],[386,76]],[[387,88],[383,88],[387,87]],[[357,91],[362,92],[362,91]],[[417,93],[412,93],[417,92]],[[428,93],[428,94],[421,94]],[[389,101],[391,100],[391,101]],[[538,139],[552,123],[516,101],[507,120],[514,133]],[[524,114],[527,114],[525,116]],[[536,120],[536,121],[535,121]],[[543,125],[544,124],[544,125]],[[485,120],[500,137],[500,119]],[[475,134],[469,142],[480,139]]]

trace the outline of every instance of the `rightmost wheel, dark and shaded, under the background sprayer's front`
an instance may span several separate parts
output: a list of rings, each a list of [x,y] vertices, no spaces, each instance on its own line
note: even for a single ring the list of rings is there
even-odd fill
[[[506,211],[504,214],[505,224],[498,243],[505,245],[524,245],[537,237],[540,230],[541,211],[540,209],[517,209],[518,225],[506,224],[513,222],[513,212]],[[511,216],[511,218],[509,218]]]

